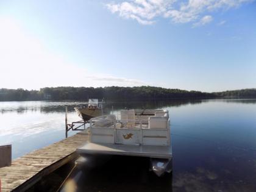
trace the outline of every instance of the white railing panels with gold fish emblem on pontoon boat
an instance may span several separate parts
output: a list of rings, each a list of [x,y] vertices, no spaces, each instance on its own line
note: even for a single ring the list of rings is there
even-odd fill
[[[129,116],[128,116],[129,117]],[[96,143],[169,145],[169,117],[116,119],[105,115],[90,119],[89,140]]]

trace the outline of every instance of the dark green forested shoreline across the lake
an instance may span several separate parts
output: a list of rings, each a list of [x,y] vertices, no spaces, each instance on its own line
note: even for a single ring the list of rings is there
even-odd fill
[[[87,100],[144,100],[144,99],[214,99],[256,98],[256,88],[206,93],[161,87],[45,87],[40,90],[0,89],[0,101],[61,101]]]

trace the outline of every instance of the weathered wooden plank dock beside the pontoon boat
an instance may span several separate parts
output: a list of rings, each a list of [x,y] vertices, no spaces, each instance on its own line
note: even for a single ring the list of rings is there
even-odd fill
[[[43,176],[77,158],[76,149],[82,146],[87,138],[87,133],[79,132],[65,140],[16,158],[11,166],[0,168],[0,191],[26,191]]]

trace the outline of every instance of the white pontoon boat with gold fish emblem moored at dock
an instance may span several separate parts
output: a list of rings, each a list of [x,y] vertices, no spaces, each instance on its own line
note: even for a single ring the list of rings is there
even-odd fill
[[[90,119],[88,141],[77,149],[82,157],[129,155],[148,157],[157,176],[172,171],[168,110],[121,110]]]

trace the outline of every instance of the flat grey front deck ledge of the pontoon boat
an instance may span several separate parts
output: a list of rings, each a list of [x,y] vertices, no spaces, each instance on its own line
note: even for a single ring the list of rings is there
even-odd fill
[[[152,158],[171,158],[171,146],[147,146],[129,144],[99,144],[87,143],[77,149],[80,155],[86,154],[105,154],[105,155],[130,155]]]

